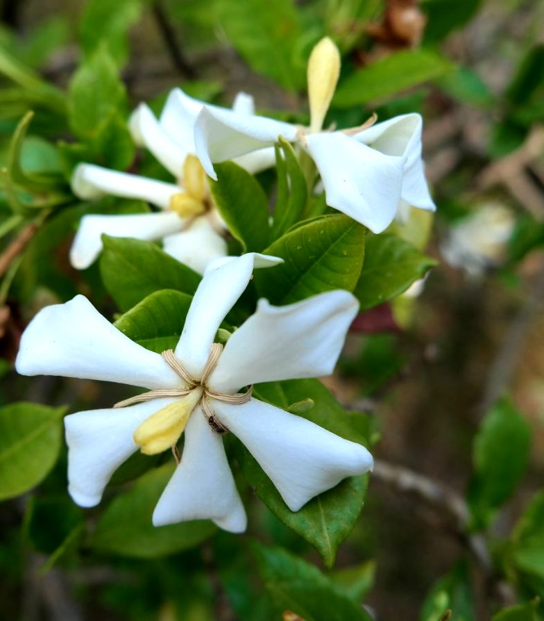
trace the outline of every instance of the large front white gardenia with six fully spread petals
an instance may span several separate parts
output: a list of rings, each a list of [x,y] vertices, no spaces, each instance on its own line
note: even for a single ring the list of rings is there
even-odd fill
[[[66,417],[69,492],[76,503],[98,504],[113,472],[131,454],[176,451],[184,431],[180,462],[153,513],[157,526],[210,519],[228,531],[244,531],[246,513],[221,440],[227,430],[246,445],[291,511],[345,477],[371,469],[372,456],[362,445],[255,399],[250,388],[330,374],[357,313],[355,297],[337,290],[289,306],[261,299],[224,349],[214,343],[253,268],[279,262],[246,254],[210,266],[176,349],[162,356],[124,336],[80,295],[35,316],[22,336],[19,373],[114,381],[151,391],[119,408]]]

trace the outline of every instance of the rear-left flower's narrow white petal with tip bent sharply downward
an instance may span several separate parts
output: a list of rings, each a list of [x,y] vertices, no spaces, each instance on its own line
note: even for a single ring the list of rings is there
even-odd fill
[[[85,215],[70,249],[70,263],[85,270],[102,251],[102,235],[153,241],[180,231],[185,225],[173,211],[130,215]]]

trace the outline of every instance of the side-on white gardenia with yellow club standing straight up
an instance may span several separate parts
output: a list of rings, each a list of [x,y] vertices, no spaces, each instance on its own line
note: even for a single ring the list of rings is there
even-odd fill
[[[314,160],[327,204],[374,233],[393,222],[401,199],[433,211],[421,159],[420,115],[401,115],[377,124],[373,117],[360,127],[321,131],[339,72],[339,51],[324,38],[308,63],[309,128],[205,106],[196,119],[194,139],[207,174],[216,179],[214,163],[247,156],[283,136]]]

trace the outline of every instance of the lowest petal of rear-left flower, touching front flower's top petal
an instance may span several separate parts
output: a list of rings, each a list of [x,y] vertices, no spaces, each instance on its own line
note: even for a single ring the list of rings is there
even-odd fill
[[[168,235],[162,242],[164,251],[203,274],[210,261],[226,256],[227,243],[210,224],[199,217],[181,233]]]

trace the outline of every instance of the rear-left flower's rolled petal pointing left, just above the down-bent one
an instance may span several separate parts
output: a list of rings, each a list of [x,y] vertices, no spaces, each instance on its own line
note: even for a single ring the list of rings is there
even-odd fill
[[[162,209],[169,206],[174,194],[181,192],[180,186],[173,183],[147,179],[94,164],[79,164],[76,167],[71,188],[77,197],[87,201],[110,194],[124,199],[147,201]]]

